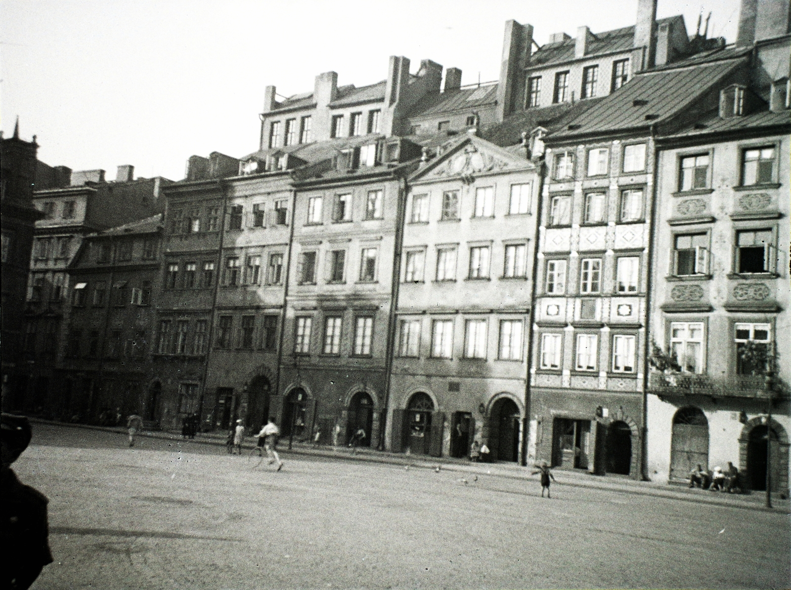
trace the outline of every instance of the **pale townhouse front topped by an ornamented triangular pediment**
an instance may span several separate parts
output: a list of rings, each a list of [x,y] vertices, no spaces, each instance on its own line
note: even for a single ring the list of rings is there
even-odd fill
[[[522,458],[539,178],[523,148],[467,135],[409,183],[387,448]]]

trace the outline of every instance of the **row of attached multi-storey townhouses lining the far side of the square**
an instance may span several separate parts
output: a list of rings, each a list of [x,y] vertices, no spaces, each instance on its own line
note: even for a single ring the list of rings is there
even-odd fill
[[[789,10],[744,4],[735,46],[639,2],[535,52],[509,21],[497,85],[392,58],[267,88],[257,152],[193,156],[161,220],[71,265],[61,403],[644,479],[730,460],[785,493]]]

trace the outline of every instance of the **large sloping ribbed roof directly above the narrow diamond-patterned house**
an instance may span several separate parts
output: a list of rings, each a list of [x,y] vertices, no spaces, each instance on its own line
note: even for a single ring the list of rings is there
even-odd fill
[[[551,139],[589,133],[647,128],[689,107],[707,88],[739,68],[744,60],[704,63],[698,66],[640,73],[610,96],[566,121]]]

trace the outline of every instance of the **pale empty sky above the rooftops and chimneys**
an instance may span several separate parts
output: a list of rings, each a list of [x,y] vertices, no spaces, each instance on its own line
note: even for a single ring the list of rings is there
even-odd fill
[[[739,0],[659,0],[694,33],[736,39]],[[312,92],[384,80],[390,55],[499,76],[505,21],[547,43],[634,24],[637,0],[2,0],[0,126],[37,136],[39,159],[74,170],[132,164],[135,176],[184,178],[187,158],[241,157],[259,145],[263,92]]]

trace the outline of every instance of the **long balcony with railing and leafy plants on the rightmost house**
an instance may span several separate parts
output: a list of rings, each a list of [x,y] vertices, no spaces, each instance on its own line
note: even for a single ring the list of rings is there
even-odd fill
[[[785,399],[787,394],[782,393],[778,385],[775,385],[771,396]],[[753,400],[766,400],[770,396],[766,392],[766,378],[763,375],[713,377],[652,371],[648,378],[648,389],[649,393],[657,396],[740,397]]]

